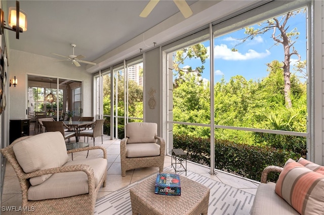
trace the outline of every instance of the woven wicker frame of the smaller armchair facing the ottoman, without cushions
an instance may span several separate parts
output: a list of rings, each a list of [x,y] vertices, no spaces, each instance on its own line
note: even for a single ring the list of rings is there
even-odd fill
[[[135,168],[143,167],[158,167],[159,172],[163,172],[166,142],[162,137],[155,136],[160,145],[160,155],[150,157],[127,157],[126,145],[128,137],[120,141],[120,163],[121,163],[121,176],[126,176],[126,171]]]

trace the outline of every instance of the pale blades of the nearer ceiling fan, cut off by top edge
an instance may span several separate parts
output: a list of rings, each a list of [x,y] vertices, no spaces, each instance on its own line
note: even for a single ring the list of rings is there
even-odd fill
[[[149,3],[144,8],[144,10],[142,11],[142,13],[140,14],[140,17],[144,17],[144,18],[147,17],[158,2],[159,0],[150,0]],[[187,4],[186,0],[173,0],[173,2],[179,8],[184,18],[188,18],[192,15],[192,11],[189,5]]]

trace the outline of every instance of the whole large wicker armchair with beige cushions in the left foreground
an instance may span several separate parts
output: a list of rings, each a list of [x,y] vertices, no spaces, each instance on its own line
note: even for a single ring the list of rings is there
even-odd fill
[[[68,153],[99,149],[103,157],[71,160]],[[22,189],[22,213],[92,214],[106,185],[107,153],[102,146],[66,150],[61,132],[21,137],[1,149]]]

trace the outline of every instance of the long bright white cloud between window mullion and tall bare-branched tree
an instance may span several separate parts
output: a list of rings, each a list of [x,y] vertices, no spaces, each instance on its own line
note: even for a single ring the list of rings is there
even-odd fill
[[[249,49],[246,53],[240,53],[239,51],[232,51],[225,44],[216,45],[214,49],[214,56],[217,59],[223,59],[227,61],[244,61],[250,59],[264,58],[270,55],[269,50],[266,52],[257,52],[253,49]]]

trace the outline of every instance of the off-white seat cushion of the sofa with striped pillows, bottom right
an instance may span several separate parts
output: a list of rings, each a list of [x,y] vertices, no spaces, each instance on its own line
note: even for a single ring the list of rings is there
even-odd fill
[[[251,215],[260,214],[280,214],[291,215],[300,213],[297,212],[292,206],[290,206],[283,198],[278,196],[275,192],[275,183],[261,183],[257,189],[257,193],[254,197],[253,206],[251,209]]]

